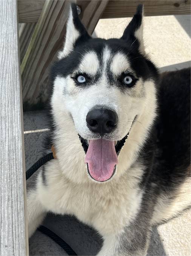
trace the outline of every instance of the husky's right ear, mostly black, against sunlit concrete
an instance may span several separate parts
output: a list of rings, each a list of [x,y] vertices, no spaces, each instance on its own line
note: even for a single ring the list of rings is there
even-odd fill
[[[133,44],[134,46],[137,45],[140,53],[145,55],[145,46],[143,42],[143,5],[137,6],[137,11],[126,27],[121,39],[132,41],[132,46]]]

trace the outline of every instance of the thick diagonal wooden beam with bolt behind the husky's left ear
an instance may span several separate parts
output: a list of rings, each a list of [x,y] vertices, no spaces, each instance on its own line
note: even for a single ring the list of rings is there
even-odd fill
[[[23,58],[22,84],[23,109],[40,108],[48,99],[49,67],[63,47],[69,1],[46,1],[42,14]],[[107,1],[86,1],[83,5],[82,22],[89,33],[94,30]]]

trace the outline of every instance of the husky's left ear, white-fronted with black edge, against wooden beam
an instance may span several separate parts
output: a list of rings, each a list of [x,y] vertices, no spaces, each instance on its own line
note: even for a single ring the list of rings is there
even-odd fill
[[[75,3],[71,3],[69,16],[66,25],[66,37],[63,49],[59,52],[59,59],[66,57],[74,50],[77,43],[85,42],[91,38],[82,24]]]

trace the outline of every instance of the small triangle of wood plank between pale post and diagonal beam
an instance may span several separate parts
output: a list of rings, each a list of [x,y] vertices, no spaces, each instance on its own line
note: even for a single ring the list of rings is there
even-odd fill
[[[22,23],[19,29],[20,62],[22,63],[28,49],[36,23]]]

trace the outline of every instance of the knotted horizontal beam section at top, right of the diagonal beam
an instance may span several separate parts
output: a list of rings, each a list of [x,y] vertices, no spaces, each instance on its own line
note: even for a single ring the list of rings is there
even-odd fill
[[[102,19],[132,17],[139,3],[144,4],[145,16],[191,13],[190,0],[110,0],[102,15]]]

